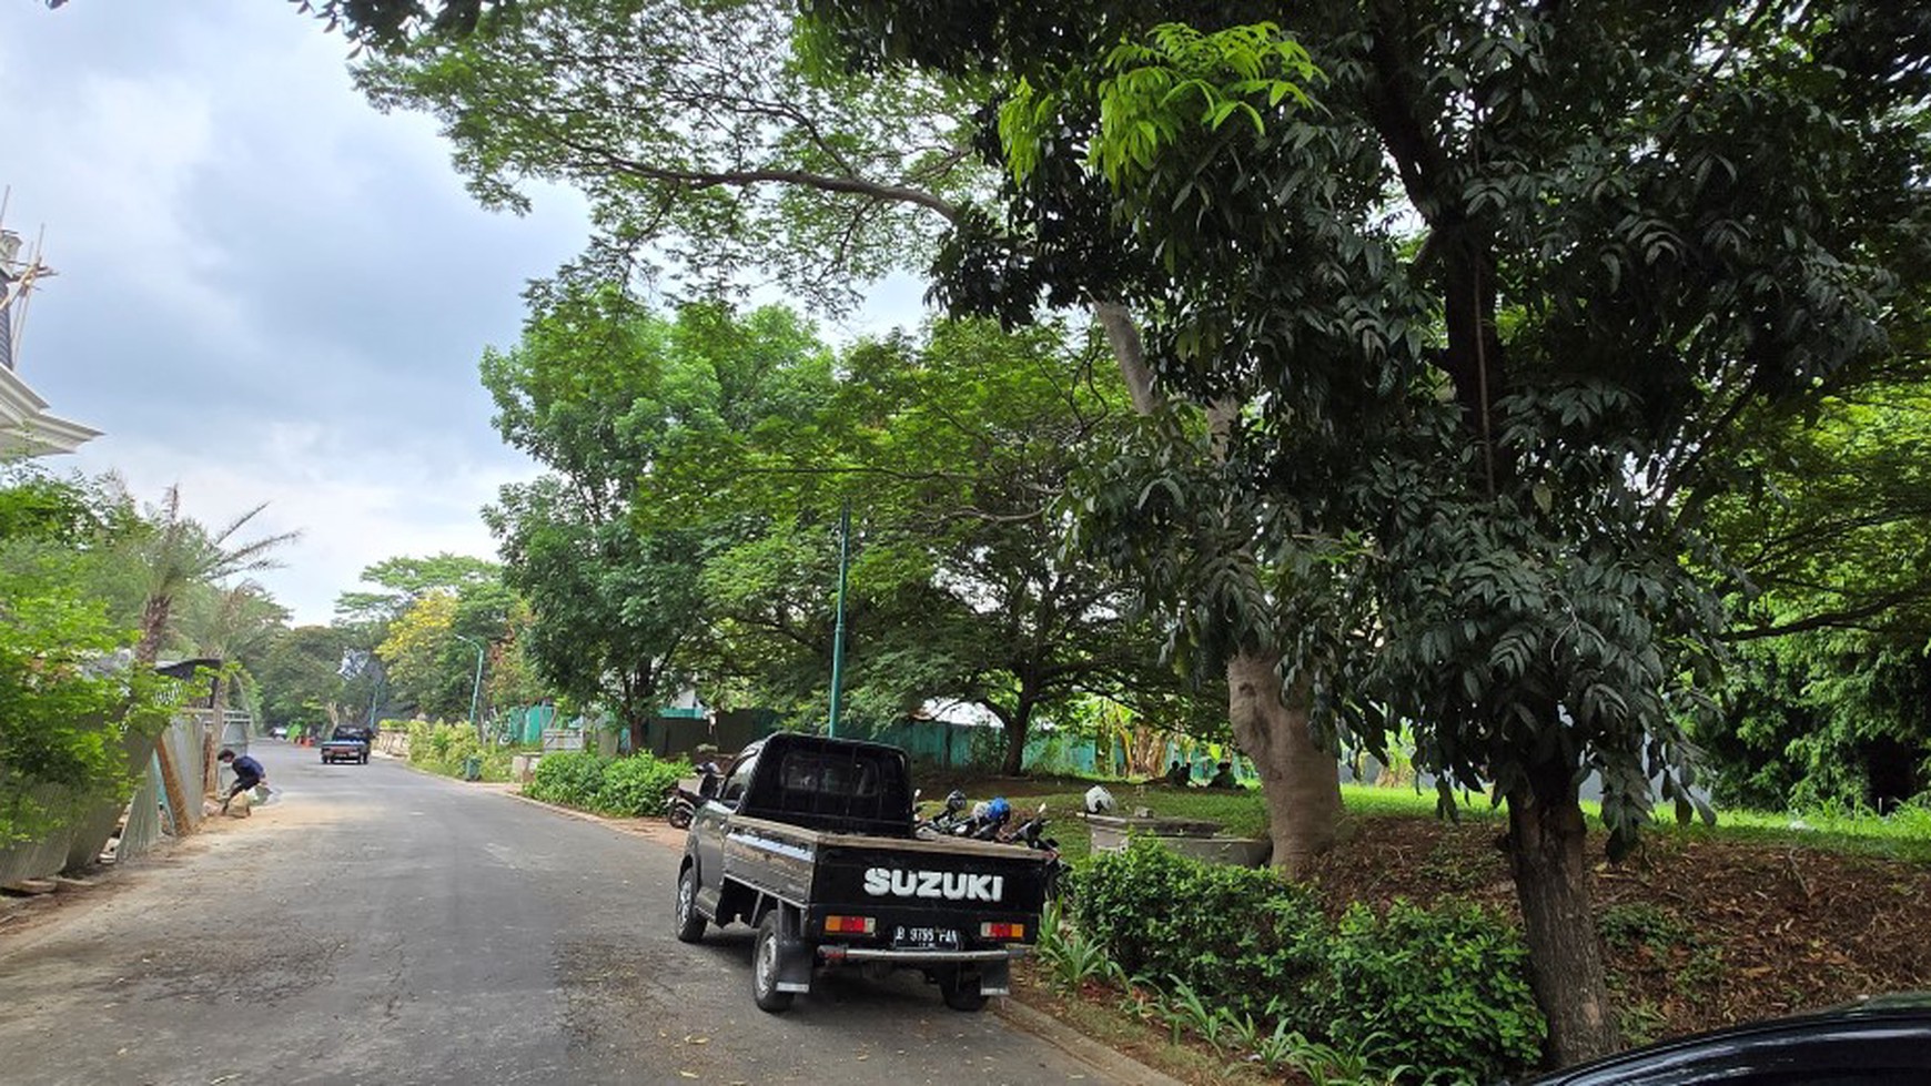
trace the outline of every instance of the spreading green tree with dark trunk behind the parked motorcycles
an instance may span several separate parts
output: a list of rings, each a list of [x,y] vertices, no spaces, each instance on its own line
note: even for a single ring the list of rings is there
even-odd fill
[[[1176,692],[1161,633],[1128,586],[1060,546],[1070,475],[1132,419],[1103,345],[1058,328],[946,322],[923,343],[865,347],[846,365],[830,411],[861,428],[842,461],[867,505],[890,511],[886,530],[923,557],[919,596],[937,604],[913,598],[888,642],[942,650],[931,691],[1000,721],[1002,772],[1023,770],[1041,714],[1083,694]]]

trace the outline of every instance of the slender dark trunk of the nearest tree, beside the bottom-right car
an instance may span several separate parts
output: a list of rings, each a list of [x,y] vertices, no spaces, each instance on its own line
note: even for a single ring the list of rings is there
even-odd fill
[[[1529,939],[1529,986],[1549,1018],[1551,1069],[1616,1051],[1603,945],[1589,907],[1585,824],[1568,766],[1508,791],[1510,864]]]

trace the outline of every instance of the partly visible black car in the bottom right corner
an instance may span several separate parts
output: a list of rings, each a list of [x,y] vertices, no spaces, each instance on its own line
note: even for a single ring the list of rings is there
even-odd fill
[[[1873,995],[1653,1044],[1524,1086],[1923,1086],[1931,991]]]

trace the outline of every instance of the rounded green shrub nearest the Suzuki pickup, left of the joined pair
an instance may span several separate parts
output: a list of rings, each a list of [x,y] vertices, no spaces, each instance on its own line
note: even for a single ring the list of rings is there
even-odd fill
[[[1321,909],[1269,870],[1201,864],[1139,839],[1089,856],[1074,878],[1079,930],[1130,976],[1271,1017],[1323,968]]]

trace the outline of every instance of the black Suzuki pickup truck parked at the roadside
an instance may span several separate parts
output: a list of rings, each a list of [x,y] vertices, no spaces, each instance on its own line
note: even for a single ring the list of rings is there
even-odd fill
[[[1039,937],[1047,864],[1023,845],[915,837],[896,747],[778,733],[707,781],[678,870],[678,937],[757,928],[763,1011],[844,964],[917,968],[948,1007],[977,1011]]]

